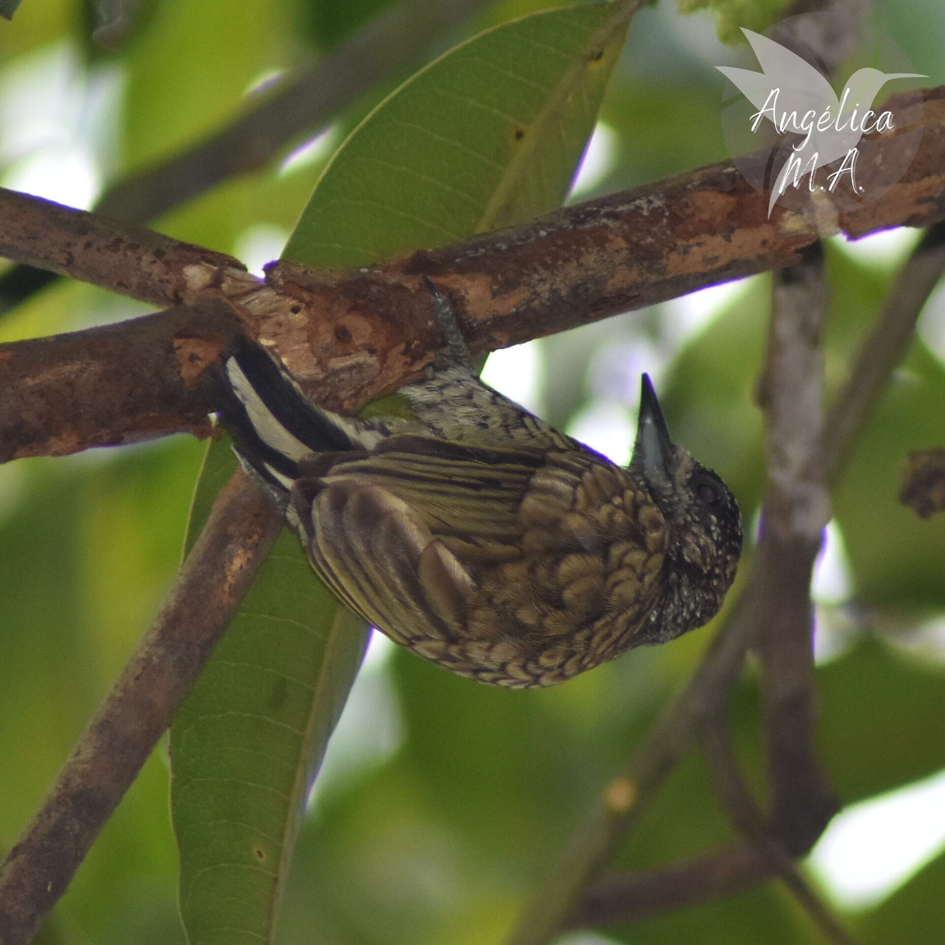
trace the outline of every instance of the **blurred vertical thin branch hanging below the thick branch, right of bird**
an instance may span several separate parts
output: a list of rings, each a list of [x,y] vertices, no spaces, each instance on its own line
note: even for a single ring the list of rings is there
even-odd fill
[[[830,521],[823,470],[823,257],[777,274],[762,400],[767,485],[758,546],[765,613],[762,699],[773,833],[808,851],[839,809],[814,749],[814,562]]]

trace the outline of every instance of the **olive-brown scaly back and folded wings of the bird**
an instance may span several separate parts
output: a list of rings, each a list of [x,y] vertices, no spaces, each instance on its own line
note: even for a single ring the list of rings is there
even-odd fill
[[[629,474],[595,455],[390,437],[301,480],[318,573],[405,644],[536,640],[652,606],[667,539]],[[641,616],[642,619],[642,616]]]

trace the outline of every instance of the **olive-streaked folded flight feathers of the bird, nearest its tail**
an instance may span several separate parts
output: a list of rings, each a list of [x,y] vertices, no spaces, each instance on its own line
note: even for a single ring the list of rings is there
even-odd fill
[[[460,637],[478,570],[519,554],[517,511],[541,451],[401,435],[337,457],[316,478],[303,468],[293,494],[318,574],[395,640]]]

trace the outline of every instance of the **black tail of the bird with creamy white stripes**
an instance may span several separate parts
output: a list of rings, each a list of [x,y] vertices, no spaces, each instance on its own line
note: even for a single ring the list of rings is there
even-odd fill
[[[346,430],[352,421],[313,404],[282,362],[247,337],[204,371],[202,383],[244,469],[281,501],[303,457],[359,446]]]

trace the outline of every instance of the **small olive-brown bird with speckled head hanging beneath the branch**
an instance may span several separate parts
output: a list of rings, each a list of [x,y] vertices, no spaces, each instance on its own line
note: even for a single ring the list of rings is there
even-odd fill
[[[409,417],[318,406],[247,335],[204,371],[215,421],[316,574],[395,643],[512,689],[706,624],[741,553],[738,505],[672,441],[649,377],[624,468],[484,384],[425,284],[449,354],[400,388]]]

